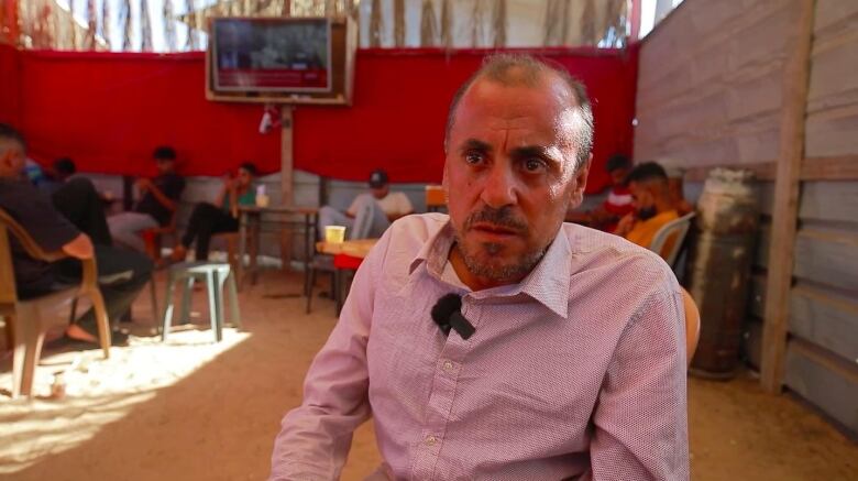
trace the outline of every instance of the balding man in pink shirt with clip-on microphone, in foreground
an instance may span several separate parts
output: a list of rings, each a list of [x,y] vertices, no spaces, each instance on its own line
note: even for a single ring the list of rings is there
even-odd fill
[[[689,478],[680,287],[656,254],[563,223],[592,140],[565,72],[487,59],[450,108],[449,217],[397,220],[361,265],[272,480],[338,479],[370,417],[373,479]]]

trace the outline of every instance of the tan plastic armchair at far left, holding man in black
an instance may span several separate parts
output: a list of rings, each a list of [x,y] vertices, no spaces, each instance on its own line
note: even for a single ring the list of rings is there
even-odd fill
[[[18,239],[28,255],[45,262],[55,262],[68,255],[65,252],[45,252],[32,237],[4,210],[0,209],[0,317],[6,320],[9,346],[14,349],[12,359],[12,397],[30,396],[33,390],[35,369],[42,354],[46,326],[42,325],[40,310],[88,296],[92,302],[98,325],[98,338],[105,359],[110,357],[110,326],[105,307],[105,298],[98,288],[98,269],[96,259],[81,262],[82,278],[80,285],[57,289],[50,294],[30,299],[18,296],[12,265],[12,251],[9,232]]]

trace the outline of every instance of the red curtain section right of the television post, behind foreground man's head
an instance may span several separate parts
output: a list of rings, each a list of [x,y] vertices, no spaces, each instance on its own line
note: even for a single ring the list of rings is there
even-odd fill
[[[582,80],[596,123],[588,192],[608,184],[604,162],[630,156],[637,51],[539,50]],[[439,182],[450,99],[486,51],[365,50],[358,55],[350,109],[300,108],[296,165],[330,177],[364,179],[383,167],[397,182]]]

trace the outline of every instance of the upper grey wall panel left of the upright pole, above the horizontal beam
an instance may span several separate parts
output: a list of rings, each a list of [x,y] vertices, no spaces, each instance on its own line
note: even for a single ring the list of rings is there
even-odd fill
[[[777,157],[789,2],[689,0],[645,41],[635,156],[667,165]]]

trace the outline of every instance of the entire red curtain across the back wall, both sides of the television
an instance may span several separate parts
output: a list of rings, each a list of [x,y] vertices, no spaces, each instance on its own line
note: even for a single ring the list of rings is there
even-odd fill
[[[607,183],[605,157],[631,154],[636,51],[531,53],[569,68],[588,88],[596,121],[588,190],[598,190]],[[352,107],[296,108],[295,167],[355,181],[382,167],[394,182],[440,181],[450,98],[485,54],[359,51]],[[68,155],[81,171],[148,174],[152,150],[170,144],[187,175],[221,175],[244,161],[266,173],[279,170],[278,133],[257,131],[261,105],[206,100],[201,53],[19,55],[16,123],[38,162]],[[14,99],[3,103],[0,97],[0,116],[7,105],[14,110]]]

